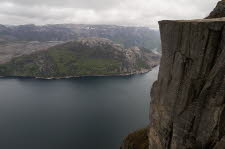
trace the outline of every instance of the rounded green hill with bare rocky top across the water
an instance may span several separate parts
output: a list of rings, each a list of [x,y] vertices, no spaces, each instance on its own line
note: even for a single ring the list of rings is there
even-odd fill
[[[84,38],[19,56],[0,65],[0,76],[65,78],[143,73],[160,56],[138,47],[124,48],[104,38]]]

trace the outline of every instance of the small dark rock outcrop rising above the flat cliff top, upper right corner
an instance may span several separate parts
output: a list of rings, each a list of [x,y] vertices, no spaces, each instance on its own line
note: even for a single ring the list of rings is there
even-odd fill
[[[216,8],[209,14],[206,19],[225,17],[225,0],[219,1]]]

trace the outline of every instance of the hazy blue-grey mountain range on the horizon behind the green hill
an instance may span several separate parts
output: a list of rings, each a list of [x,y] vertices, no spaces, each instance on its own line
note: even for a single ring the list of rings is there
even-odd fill
[[[137,46],[148,50],[160,49],[159,31],[147,27],[115,25],[0,25],[0,41],[72,41],[80,38],[107,38],[125,48]]]

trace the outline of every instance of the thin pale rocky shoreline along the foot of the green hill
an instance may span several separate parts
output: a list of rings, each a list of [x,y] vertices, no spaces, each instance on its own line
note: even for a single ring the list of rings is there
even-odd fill
[[[80,76],[65,76],[65,77],[0,76],[0,79],[1,78],[12,78],[12,79],[15,78],[15,79],[60,80],[60,79],[85,78],[85,77],[125,77],[125,76],[133,76],[133,75],[148,73],[157,66],[158,65],[153,66],[151,69],[145,69],[145,70],[136,71],[136,72],[132,72],[132,73],[109,74],[109,75],[80,75]]]

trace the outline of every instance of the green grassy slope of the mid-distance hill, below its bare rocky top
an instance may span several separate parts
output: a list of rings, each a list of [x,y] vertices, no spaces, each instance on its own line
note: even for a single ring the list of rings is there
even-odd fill
[[[60,47],[47,52],[14,58],[0,65],[2,76],[63,77],[118,73],[121,62],[114,59],[89,57],[87,51],[76,52]]]

